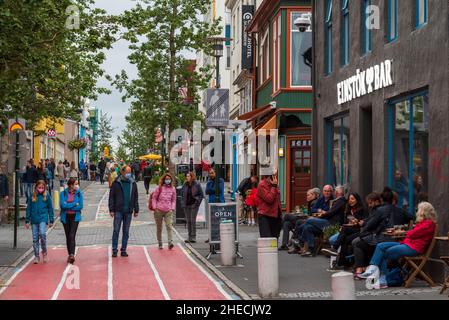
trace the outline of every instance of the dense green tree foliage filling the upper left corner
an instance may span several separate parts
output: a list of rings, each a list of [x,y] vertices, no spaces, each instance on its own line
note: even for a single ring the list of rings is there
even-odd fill
[[[111,48],[118,25],[93,3],[2,1],[0,122],[18,116],[33,127],[45,117],[79,120],[85,98],[108,92],[97,79],[104,75],[103,49]]]

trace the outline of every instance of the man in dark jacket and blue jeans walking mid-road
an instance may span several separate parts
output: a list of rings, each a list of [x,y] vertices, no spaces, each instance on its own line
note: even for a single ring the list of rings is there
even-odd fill
[[[118,237],[123,223],[121,256],[127,257],[129,228],[132,215],[139,215],[139,199],[137,183],[133,180],[131,167],[122,168],[121,176],[115,179],[109,191],[109,212],[114,218],[114,231],[112,234],[112,257],[117,257]]]

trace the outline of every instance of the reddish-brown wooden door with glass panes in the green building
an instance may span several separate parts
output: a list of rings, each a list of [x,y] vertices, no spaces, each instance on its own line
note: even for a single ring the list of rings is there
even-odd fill
[[[312,140],[303,138],[291,141],[291,208],[307,205],[307,190],[311,188]]]

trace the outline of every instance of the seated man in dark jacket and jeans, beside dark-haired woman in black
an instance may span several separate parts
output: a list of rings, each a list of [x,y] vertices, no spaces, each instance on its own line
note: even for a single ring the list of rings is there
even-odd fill
[[[313,218],[309,218],[299,227],[299,240],[304,243],[302,257],[311,257],[315,252],[315,236],[321,234],[331,225],[343,224],[346,208],[345,190],[343,186],[335,188],[335,200],[328,211],[318,211]]]

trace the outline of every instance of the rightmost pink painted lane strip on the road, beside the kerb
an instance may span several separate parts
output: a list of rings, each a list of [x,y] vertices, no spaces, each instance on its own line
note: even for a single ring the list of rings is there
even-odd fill
[[[172,300],[226,298],[180,248],[175,246],[173,250],[159,250],[149,247],[147,250]]]

